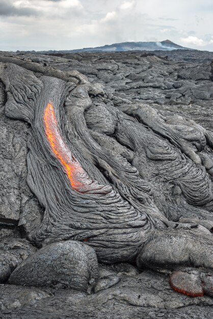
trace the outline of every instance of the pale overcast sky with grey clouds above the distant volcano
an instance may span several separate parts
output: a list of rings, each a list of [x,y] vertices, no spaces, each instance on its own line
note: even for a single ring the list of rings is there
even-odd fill
[[[162,41],[213,51],[213,0],[0,0],[0,50]]]

